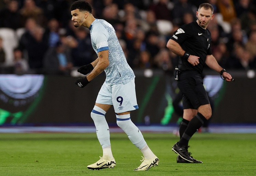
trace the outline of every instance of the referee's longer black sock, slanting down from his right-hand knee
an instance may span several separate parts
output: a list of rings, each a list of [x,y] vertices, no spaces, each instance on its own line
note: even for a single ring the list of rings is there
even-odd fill
[[[206,121],[207,119],[198,112],[197,115],[193,117],[188,123],[187,129],[185,130],[179,141],[179,146],[188,146],[188,141],[190,140],[190,138]]]

